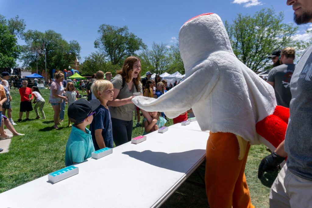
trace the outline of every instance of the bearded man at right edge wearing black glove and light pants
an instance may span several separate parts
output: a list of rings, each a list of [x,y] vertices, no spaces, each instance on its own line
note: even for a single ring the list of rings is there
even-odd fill
[[[287,0],[296,24],[312,23],[311,0]],[[270,207],[311,207],[312,201],[312,45],[299,60],[290,81],[290,117],[282,142],[262,161],[270,171],[287,162],[270,191]],[[285,145],[284,145],[285,144]],[[262,162],[261,161],[261,162]]]

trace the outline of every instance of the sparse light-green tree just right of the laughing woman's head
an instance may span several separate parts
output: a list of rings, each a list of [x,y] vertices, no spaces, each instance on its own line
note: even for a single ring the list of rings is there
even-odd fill
[[[169,48],[164,43],[157,44],[153,42],[151,50],[144,47],[140,57],[143,59],[142,62],[145,62],[146,66],[144,67],[150,69],[151,72],[162,74],[169,69]]]

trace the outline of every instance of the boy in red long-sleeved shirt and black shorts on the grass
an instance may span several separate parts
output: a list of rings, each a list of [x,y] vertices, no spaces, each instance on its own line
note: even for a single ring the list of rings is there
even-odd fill
[[[32,111],[32,89],[27,87],[28,81],[23,80],[22,81],[22,87],[19,89],[19,93],[21,95],[21,103],[20,103],[20,113],[19,113],[19,119],[17,122],[22,121],[23,112],[26,112],[26,119],[25,121],[29,120],[29,112]]]

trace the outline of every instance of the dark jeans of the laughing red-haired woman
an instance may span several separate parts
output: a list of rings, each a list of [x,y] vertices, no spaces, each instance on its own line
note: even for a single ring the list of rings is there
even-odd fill
[[[130,142],[132,137],[133,120],[124,121],[114,118],[111,118],[111,120],[113,129],[113,140],[116,147],[124,143]]]

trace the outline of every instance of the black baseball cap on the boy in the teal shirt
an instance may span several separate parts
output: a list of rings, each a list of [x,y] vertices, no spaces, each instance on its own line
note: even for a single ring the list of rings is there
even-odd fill
[[[68,118],[74,119],[76,123],[80,123],[87,118],[89,114],[95,111],[100,104],[100,101],[97,99],[92,99],[90,101],[86,99],[76,100],[68,107]]]

